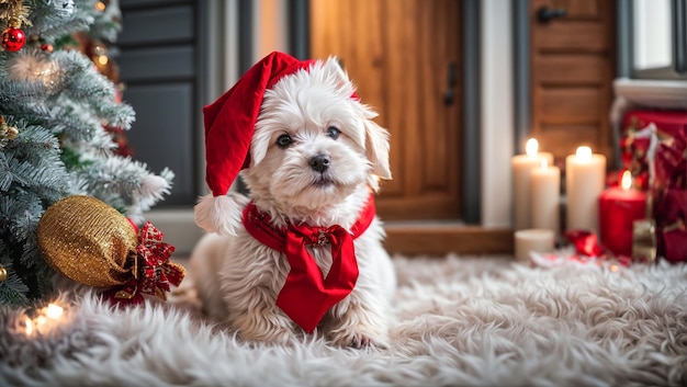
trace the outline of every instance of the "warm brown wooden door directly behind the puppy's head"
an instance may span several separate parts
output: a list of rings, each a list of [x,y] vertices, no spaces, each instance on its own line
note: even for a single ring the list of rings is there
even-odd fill
[[[311,0],[311,56],[338,56],[391,133],[384,219],[460,218],[460,11],[459,0]]]

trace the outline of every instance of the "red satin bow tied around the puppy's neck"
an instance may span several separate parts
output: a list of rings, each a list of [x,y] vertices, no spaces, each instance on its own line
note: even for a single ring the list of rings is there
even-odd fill
[[[361,210],[349,234],[339,225],[311,227],[289,225],[275,228],[268,214],[251,202],[244,209],[243,223],[248,234],[264,246],[286,254],[291,271],[279,292],[277,306],[306,332],[312,332],[325,312],[348,296],[358,280],[353,239],[362,235],[374,218],[374,197]],[[306,246],[331,244],[331,268],[323,277]]]

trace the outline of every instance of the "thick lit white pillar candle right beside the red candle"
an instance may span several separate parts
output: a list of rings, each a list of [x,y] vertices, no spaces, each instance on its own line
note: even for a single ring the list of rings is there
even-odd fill
[[[565,158],[566,228],[599,230],[599,196],[606,186],[606,157],[579,147]]]

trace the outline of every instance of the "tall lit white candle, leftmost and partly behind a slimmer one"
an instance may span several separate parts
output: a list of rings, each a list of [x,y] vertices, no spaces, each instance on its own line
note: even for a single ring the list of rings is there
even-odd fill
[[[530,138],[525,155],[516,155],[510,159],[513,168],[513,228],[516,230],[531,228],[530,210],[530,173],[539,167],[542,159],[553,164],[553,155],[538,152],[539,144]]]

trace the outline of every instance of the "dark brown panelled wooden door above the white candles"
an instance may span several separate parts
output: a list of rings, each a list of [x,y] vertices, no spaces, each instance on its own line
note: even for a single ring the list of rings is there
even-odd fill
[[[611,0],[531,0],[532,135],[562,162],[581,145],[612,156],[616,69]],[[540,21],[542,9],[564,15]]]

